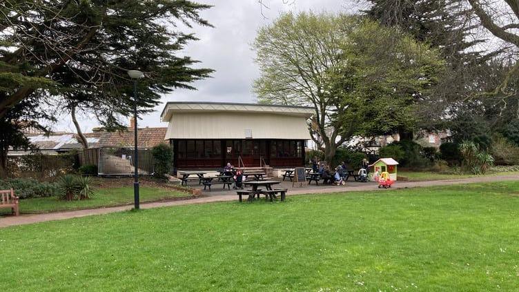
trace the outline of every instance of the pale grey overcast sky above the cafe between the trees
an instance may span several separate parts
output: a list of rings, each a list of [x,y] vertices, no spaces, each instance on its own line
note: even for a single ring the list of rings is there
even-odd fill
[[[199,0],[200,3],[213,5],[202,12],[215,28],[193,27],[200,39],[186,46],[184,54],[202,63],[197,66],[216,70],[213,77],[198,81],[194,86],[198,90],[176,90],[164,95],[161,104],[139,120],[141,126],[167,126],[160,121],[160,113],[167,101],[222,101],[255,102],[251,93],[253,80],[259,75],[251,50],[258,28],[271,23],[282,12],[355,12],[358,4],[355,0],[264,0],[268,9],[260,9],[257,0]],[[289,2],[289,3],[286,3]],[[264,16],[262,15],[262,12]],[[265,18],[266,17],[266,18]],[[81,127],[88,133],[98,126],[93,117],[80,116]],[[61,122],[52,126],[52,130],[65,130],[75,133],[70,117],[63,116]]]

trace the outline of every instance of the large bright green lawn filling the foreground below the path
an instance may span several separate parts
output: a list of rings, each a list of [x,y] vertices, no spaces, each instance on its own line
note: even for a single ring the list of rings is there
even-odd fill
[[[519,182],[0,229],[3,291],[514,291]]]

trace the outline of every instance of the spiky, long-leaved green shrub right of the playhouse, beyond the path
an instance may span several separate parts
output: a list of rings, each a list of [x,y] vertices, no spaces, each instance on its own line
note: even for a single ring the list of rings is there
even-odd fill
[[[493,157],[486,151],[480,150],[474,142],[463,142],[460,144],[460,154],[462,156],[462,169],[475,175],[487,172],[493,165]]]

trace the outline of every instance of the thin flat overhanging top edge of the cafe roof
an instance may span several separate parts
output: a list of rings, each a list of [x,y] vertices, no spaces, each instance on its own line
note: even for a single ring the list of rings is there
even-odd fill
[[[233,104],[220,102],[168,102],[160,115],[162,121],[170,121],[173,113],[196,112],[233,112],[233,113],[271,113],[303,116],[307,119],[315,114],[313,108],[306,106],[282,106],[277,104]]]

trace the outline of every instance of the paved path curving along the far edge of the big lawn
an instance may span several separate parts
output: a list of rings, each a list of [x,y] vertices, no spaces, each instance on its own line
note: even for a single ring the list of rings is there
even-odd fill
[[[519,180],[519,175],[496,175],[489,177],[470,177],[466,179],[445,179],[445,180],[436,180],[436,181],[427,181],[427,182],[396,182],[393,184],[393,188],[415,188],[420,186],[444,186],[444,185],[452,185],[452,184],[471,184],[476,182],[502,182],[502,181],[511,181],[511,180]],[[362,184],[357,186],[346,186],[346,187],[337,187],[337,186],[326,186],[322,188],[315,188],[312,190],[309,189],[293,189],[287,193],[287,195],[302,195],[302,194],[321,194],[321,193],[344,193],[344,192],[353,192],[353,191],[384,191],[384,189],[376,188],[373,184]],[[157,208],[164,206],[181,206],[188,204],[204,204],[211,202],[226,202],[237,200],[237,196],[233,193],[228,193],[226,195],[210,195],[208,197],[200,197],[198,199],[186,199],[180,201],[170,201],[170,202],[153,202],[153,203],[144,203],[141,204],[141,208]],[[46,214],[28,214],[28,215],[20,215],[18,217],[8,216],[0,218],[0,228],[6,226],[14,226],[14,225],[22,225],[22,224],[32,224],[37,222],[46,222],[51,220],[64,220],[75,217],[84,217],[89,215],[99,215],[106,213],[114,213],[121,211],[128,211],[133,208],[133,205],[130,206],[119,206],[119,207],[109,207],[109,208],[96,208],[96,209],[87,209],[80,211],[67,211],[60,213],[46,213]]]

